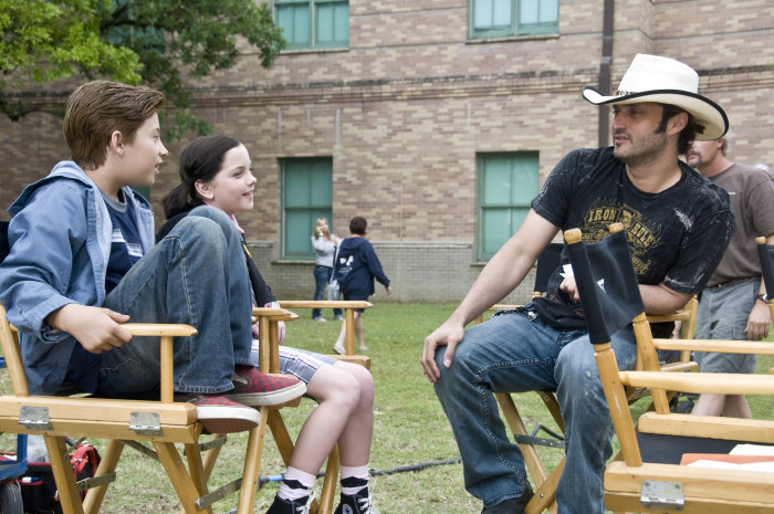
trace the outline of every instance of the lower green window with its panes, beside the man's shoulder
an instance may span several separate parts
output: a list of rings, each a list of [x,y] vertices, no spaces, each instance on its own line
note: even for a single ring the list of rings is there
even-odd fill
[[[485,261],[513,235],[537,195],[536,151],[481,154],[479,167],[479,254]]]

